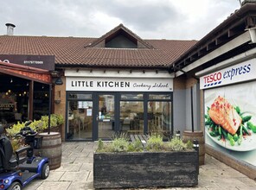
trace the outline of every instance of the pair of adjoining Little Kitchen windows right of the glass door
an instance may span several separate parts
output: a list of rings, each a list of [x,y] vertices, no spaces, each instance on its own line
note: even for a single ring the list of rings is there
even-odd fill
[[[170,137],[172,131],[171,101],[170,94],[122,93],[120,131],[128,135],[146,132]]]

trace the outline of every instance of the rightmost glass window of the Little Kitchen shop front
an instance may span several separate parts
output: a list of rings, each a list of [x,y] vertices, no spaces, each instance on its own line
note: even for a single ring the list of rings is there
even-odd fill
[[[150,94],[148,101],[148,130],[150,133],[170,137],[172,104],[170,95]]]

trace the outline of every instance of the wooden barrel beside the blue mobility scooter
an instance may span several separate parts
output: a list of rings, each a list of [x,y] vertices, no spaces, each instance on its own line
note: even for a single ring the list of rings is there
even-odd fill
[[[35,149],[35,155],[48,157],[50,169],[61,167],[61,134],[58,132],[51,132],[50,134],[44,132],[39,133],[42,136],[42,146],[40,149]]]

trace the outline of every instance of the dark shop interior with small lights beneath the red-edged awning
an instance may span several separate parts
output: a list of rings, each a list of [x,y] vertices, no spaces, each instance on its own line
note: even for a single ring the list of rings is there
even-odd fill
[[[0,123],[9,127],[29,119],[29,79],[0,74]],[[34,82],[33,119],[48,115],[48,85]]]

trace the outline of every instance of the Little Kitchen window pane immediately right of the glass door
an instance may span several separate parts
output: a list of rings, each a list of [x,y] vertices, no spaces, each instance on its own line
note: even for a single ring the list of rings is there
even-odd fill
[[[122,133],[144,134],[143,94],[121,95],[120,130]]]

